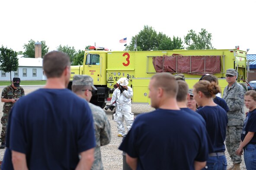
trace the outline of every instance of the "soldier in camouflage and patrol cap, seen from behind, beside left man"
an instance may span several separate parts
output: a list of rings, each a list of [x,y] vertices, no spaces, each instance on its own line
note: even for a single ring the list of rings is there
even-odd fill
[[[73,78],[72,91],[79,97],[84,98],[86,101],[90,101],[94,91],[97,88],[93,85],[93,79],[86,75],[75,75]],[[94,129],[96,148],[94,151],[94,162],[91,170],[103,170],[103,164],[101,160],[100,146],[107,145],[111,139],[110,123],[106,116],[106,113],[94,104],[89,103],[90,109],[93,113]]]

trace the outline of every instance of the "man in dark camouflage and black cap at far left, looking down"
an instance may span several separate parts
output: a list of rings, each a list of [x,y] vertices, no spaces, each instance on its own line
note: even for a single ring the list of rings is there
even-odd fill
[[[19,77],[14,77],[12,84],[3,88],[3,91],[2,91],[1,102],[4,102],[4,104],[3,104],[3,117],[1,118],[1,124],[2,124],[2,132],[0,137],[1,149],[5,147],[8,116],[11,111],[11,108],[13,107],[13,104],[21,96],[25,95],[23,88],[19,87],[19,83],[20,83]]]

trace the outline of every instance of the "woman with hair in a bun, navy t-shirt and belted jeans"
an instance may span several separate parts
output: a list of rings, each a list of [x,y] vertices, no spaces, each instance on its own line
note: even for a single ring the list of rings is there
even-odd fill
[[[193,94],[196,103],[202,108],[196,110],[206,122],[209,135],[209,158],[205,169],[226,170],[227,159],[225,157],[225,137],[227,127],[227,112],[215,104],[213,96],[221,91],[215,82],[202,80],[193,86]]]

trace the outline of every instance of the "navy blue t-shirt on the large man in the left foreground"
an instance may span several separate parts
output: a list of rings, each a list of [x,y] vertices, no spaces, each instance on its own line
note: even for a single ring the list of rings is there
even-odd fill
[[[13,169],[11,150],[26,154],[30,170],[71,170],[96,146],[90,107],[68,89],[34,91],[9,116],[3,170]]]

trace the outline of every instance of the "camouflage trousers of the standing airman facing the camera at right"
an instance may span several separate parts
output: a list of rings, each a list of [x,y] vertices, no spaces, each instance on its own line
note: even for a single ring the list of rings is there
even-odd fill
[[[226,147],[234,164],[240,164],[242,162],[241,156],[236,154],[241,141],[242,128],[243,126],[227,126],[226,130]]]

